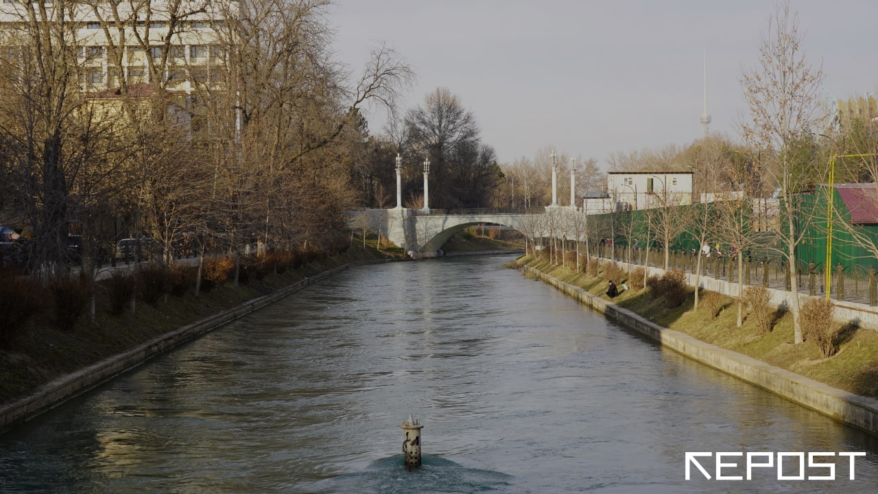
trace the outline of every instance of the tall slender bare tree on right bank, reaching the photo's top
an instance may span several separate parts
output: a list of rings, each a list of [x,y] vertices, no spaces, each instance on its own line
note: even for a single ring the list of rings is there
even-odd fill
[[[751,120],[742,124],[742,131],[745,141],[754,149],[772,151],[772,162],[764,167],[764,171],[780,188],[784,222],[780,234],[785,247],[782,254],[788,261],[792,280],[794,296],[791,297],[790,309],[796,344],[803,341],[795,276],[795,247],[802,239],[801,225],[795,224],[795,193],[801,177],[795,173],[795,154],[791,152],[791,145],[822,120],[822,115],[818,114],[818,91],[823,78],[823,70],[812,69],[802,54],[802,33],[789,2],[776,4],[759,47],[759,67],[745,70],[741,80],[751,113]],[[767,152],[762,153],[762,156],[767,155]]]

